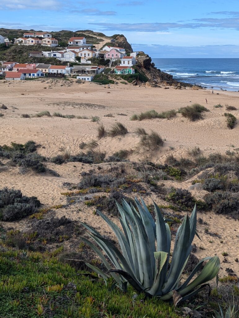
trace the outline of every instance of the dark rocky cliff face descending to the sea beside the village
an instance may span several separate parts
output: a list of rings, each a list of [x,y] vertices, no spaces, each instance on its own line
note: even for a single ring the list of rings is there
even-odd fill
[[[136,61],[136,68],[139,73],[143,73],[148,78],[148,86],[156,87],[157,84],[164,84],[167,86],[175,86],[176,89],[194,87],[191,84],[176,81],[173,79],[173,75],[161,72],[161,70],[156,68],[154,63],[152,63],[150,56],[144,52],[139,52],[136,56]],[[201,87],[195,86],[195,88],[199,89]]]

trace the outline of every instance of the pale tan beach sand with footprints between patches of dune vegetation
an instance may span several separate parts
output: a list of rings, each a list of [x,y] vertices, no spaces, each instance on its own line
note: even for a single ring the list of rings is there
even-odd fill
[[[45,88],[46,87],[46,88]],[[216,94],[219,93],[219,94]],[[206,104],[205,99],[208,100]],[[191,101],[191,102],[190,102]],[[190,122],[188,119],[177,114],[172,119],[153,119],[143,121],[130,121],[133,114],[139,114],[146,110],[155,109],[162,112],[171,109],[178,109],[193,103],[199,103],[210,112],[203,113],[203,119]],[[226,127],[225,107],[214,108],[216,104],[229,104],[239,109],[239,92],[215,91],[214,95],[210,90],[175,90],[150,88],[147,86],[132,85],[96,85],[93,83],[77,84],[74,79],[65,80],[34,80],[34,81],[1,81],[0,82],[0,105],[4,104],[8,109],[1,109],[4,114],[0,118],[0,145],[10,142],[25,143],[33,140],[41,147],[38,153],[43,156],[52,157],[62,154],[62,149],[69,150],[71,154],[79,153],[79,144],[97,140],[97,127],[99,124],[109,129],[115,122],[122,122],[128,129],[129,134],[125,137],[106,137],[98,141],[101,151],[106,156],[112,155],[121,149],[135,149],[139,137],[135,134],[136,128],[144,128],[146,131],[154,130],[163,139],[166,139],[161,151],[147,153],[134,151],[129,159],[131,161],[149,160],[163,163],[165,158],[173,154],[176,158],[186,156],[188,149],[198,146],[204,156],[213,152],[225,154],[228,149],[239,148],[239,124],[230,130]],[[92,105],[93,104],[93,105]],[[22,118],[22,114],[34,115],[37,112],[48,110],[51,114],[60,112],[62,114],[74,114],[76,116],[87,116],[89,119],[67,119],[61,117],[34,117]],[[126,114],[127,116],[120,115]],[[104,115],[112,114],[112,117]],[[239,121],[239,110],[233,111]],[[92,116],[98,116],[100,121],[91,121]],[[10,167],[0,172],[0,188],[3,186],[21,189],[24,195],[37,196],[44,205],[59,204],[65,202],[60,192],[63,191],[63,182],[78,183],[82,178],[81,172],[96,168],[97,165],[84,165],[79,162],[69,162],[63,165],[47,164],[49,168],[56,170],[60,177],[47,174],[19,174],[17,167]],[[108,163],[103,164],[105,169]],[[194,177],[196,179],[196,176]],[[165,181],[167,187],[175,186],[190,190],[191,181],[175,182]],[[204,190],[192,190],[197,198],[202,198],[206,193]],[[156,200],[157,195],[147,198],[147,204]],[[56,210],[57,216],[65,215],[75,220],[81,219],[92,226],[96,226],[100,232],[109,232],[109,228],[99,218],[92,214],[92,207],[84,207],[78,211],[74,208]],[[183,212],[182,212],[183,214]],[[221,263],[220,276],[226,275],[225,268],[230,267],[234,273],[239,275],[239,265],[234,261],[239,258],[239,226],[238,220],[224,215],[216,215],[212,212],[200,213],[209,227],[209,232],[216,233],[210,238],[204,231],[205,225],[198,224],[198,232],[202,242],[195,238],[197,246],[196,256],[218,255],[223,260],[222,252],[227,251],[229,263]],[[117,222],[116,218],[112,218]],[[11,227],[12,223],[4,226]],[[15,226],[15,225],[14,225]],[[16,228],[24,229],[24,220],[16,223]],[[211,243],[210,243],[210,242]],[[223,243],[220,243],[223,241]]]

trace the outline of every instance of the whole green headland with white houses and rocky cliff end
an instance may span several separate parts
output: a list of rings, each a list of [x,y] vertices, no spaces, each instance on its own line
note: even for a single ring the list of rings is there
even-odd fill
[[[133,52],[123,34],[0,29],[0,79],[39,77],[76,77],[101,84],[122,79],[135,85],[148,82],[157,87],[163,83],[180,89],[186,86],[156,69],[144,52]]]

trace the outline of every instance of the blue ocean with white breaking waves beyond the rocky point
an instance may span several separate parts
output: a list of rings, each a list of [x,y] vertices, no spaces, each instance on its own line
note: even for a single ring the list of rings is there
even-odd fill
[[[161,71],[185,83],[239,91],[239,59],[152,59]]]

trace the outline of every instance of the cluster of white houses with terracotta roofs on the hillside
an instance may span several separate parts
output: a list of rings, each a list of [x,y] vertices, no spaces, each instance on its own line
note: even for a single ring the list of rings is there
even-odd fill
[[[0,43],[10,45],[8,38],[0,36]],[[94,44],[86,43],[85,37],[71,37],[68,45],[60,50],[38,51],[39,45],[58,46],[58,40],[50,32],[24,32],[23,37],[15,38],[14,45],[32,46],[29,57],[55,58],[56,64],[67,62],[67,65],[45,63],[19,63],[18,61],[0,61],[0,78],[6,80],[24,80],[34,78],[65,78],[76,76],[77,79],[92,81],[97,74],[104,73],[106,67],[92,63],[92,59],[103,59],[109,66],[108,73],[135,74],[138,52],[126,52],[123,47],[114,46],[115,40],[97,49]],[[112,66],[114,65],[114,66]]]

